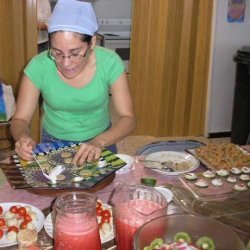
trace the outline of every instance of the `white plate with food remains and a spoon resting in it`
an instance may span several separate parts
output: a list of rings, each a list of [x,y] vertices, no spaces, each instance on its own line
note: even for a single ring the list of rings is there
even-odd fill
[[[157,162],[147,162],[145,161],[145,166],[151,168],[154,171],[157,171],[166,175],[179,175],[188,173],[195,170],[199,167],[200,162],[191,154],[186,152],[177,152],[177,151],[160,151],[149,154],[145,157],[145,160],[159,161],[159,162],[171,162],[176,168],[173,172],[164,171],[161,169],[161,165]]]

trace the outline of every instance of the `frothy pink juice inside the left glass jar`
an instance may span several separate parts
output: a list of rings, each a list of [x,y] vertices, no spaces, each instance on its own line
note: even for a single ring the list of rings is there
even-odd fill
[[[56,250],[101,250],[98,224],[95,218],[83,222],[75,214],[56,218],[55,248]]]

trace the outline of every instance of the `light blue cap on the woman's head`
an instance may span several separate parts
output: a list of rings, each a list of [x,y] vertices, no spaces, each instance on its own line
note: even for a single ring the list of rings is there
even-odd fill
[[[91,3],[58,0],[50,18],[48,32],[59,30],[93,36],[98,30],[98,23]]]

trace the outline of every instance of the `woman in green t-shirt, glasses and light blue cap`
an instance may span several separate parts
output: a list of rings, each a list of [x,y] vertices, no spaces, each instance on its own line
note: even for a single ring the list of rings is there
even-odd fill
[[[110,50],[95,46],[98,29],[90,3],[59,0],[49,23],[50,48],[24,70],[11,132],[17,154],[32,160],[36,143],[29,124],[43,97],[42,142],[84,142],[73,163],[99,159],[102,149],[135,128],[125,66]],[[111,125],[109,97],[119,119]]]

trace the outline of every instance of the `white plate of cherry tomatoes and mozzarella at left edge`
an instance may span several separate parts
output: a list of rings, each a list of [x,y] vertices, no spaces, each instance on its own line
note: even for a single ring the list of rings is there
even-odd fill
[[[20,229],[29,228],[39,232],[43,223],[42,211],[30,204],[0,203],[0,248],[16,245]]]

